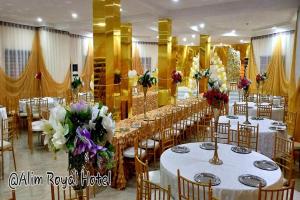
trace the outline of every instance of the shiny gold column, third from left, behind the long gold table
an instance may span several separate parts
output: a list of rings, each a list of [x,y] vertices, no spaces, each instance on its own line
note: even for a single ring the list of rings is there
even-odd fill
[[[172,86],[172,21],[170,19],[160,19],[158,21],[158,88],[159,99],[170,99],[168,92]]]

